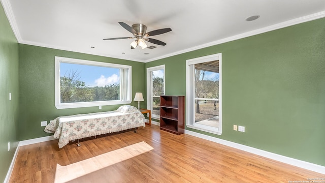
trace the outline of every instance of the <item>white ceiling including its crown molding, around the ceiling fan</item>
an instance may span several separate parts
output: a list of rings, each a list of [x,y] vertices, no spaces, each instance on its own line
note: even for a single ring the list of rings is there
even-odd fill
[[[149,62],[325,17],[324,0],[0,0],[19,43]],[[252,15],[257,20],[246,21]],[[130,49],[118,22],[142,23],[167,43]],[[94,48],[90,48],[93,46]],[[124,54],[122,54],[122,52]],[[144,54],[149,53],[149,54]]]

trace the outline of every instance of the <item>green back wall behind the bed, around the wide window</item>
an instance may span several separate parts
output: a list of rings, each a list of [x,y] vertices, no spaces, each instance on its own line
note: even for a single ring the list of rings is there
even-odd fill
[[[49,120],[62,115],[115,110],[120,106],[103,106],[102,109],[99,109],[98,106],[56,109],[54,102],[54,56],[130,65],[132,66],[133,97],[136,92],[145,93],[144,63],[19,44],[20,140],[53,135],[44,132],[41,121],[47,120],[49,122]],[[131,105],[138,106],[138,103],[133,101]],[[141,105],[144,103],[142,102]]]

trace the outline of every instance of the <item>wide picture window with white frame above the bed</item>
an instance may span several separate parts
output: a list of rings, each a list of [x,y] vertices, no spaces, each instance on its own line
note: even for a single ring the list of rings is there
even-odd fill
[[[55,57],[57,109],[129,104],[131,66]]]

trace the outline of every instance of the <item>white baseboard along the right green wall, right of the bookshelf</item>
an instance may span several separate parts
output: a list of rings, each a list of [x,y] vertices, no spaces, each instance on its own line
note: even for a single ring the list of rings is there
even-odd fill
[[[265,151],[265,150],[261,150],[261,149],[257,149],[257,148],[254,148],[254,147],[242,145],[242,144],[239,144],[239,143],[219,139],[219,138],[216,138],[216,137],[211,137],[211,136],[200,134],[200,133],[197,133],[197,132],[192,132],[192,131],[189,131],[189,130],[185,130],[185,134],[192,135],[192,136],[195,136],[195,137],[199,137],[199,138],[202,138],[202,139],[206,139],[206,140],[216,142],[216,143],[219,143],[219,144],[222,144],[222,145],[234,147],[234,148],[237,148],[237,149],[240,149],[240,150],[244,150],[244,151],[246,151],[248,153],[259,155],[259,156],[269,158],[269,159],[272,159],[272,160],[276,160],[276,161],[279,161],[279,162],[282,162],[282,163],[286,163],[286,164],[289,164],[289,165],[293,165],[293,166],[297,166],[297,167],[304,168],[304,169],[307,169],[307,170],[311,170],[311,171],[314,171],[314,172],[325,174],[325,166],[321,166],[321,165],[317,165],[317,164],[297,160],[297,159],[294,159],[294,158],[285,157],[285,156],[282,156],[282,155],[277,155],[277,154],[270,153],[270,152]]]

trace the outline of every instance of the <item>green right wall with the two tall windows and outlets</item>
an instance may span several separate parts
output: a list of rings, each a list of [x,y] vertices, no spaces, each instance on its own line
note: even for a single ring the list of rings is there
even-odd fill
[[[325,18],[146,68],[165,64],[166,95],[186,95],[186,59],[215,53],[222,53],[222,135],[186,130],[325,166]]]

